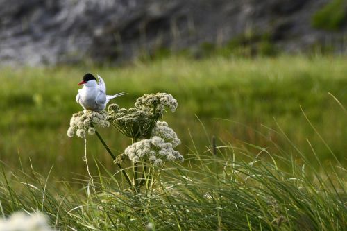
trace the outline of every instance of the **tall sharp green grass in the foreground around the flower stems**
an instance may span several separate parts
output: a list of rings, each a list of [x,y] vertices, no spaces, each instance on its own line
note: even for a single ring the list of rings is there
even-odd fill
[[[96,192],[88,194],[87,178],[55,184],[33,169],[9,172],[1,164],[1,213],[42,211],[60,230],[346,229],[343,166],[316,168],[297,146],[303,162],[294,153],[215,143],[189,151],[187,166],[156,169],[156,180],[140,193],[124,191],[121,173],[97,174]]]

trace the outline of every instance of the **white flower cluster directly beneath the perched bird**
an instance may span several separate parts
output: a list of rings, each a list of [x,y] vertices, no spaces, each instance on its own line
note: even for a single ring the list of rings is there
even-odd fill
[[[70,120],[70,127],[67,130],[67,136],[83,138],[85,134],[94,135],[95,128],[107,128],[110,123],[106,120],[108,113],[106,111],[93,112],[92,110],[85,110],[74,113]]]

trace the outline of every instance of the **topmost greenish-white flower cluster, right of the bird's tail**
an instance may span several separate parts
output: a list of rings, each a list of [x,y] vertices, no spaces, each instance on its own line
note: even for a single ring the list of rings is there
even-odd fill
[[[155,105],[155,110],[160,113],[164,112],[165,107],[170,108],[171,112],[175,112],[178,107],[177,100],[167,93],[144,94],[135,103],[135,107],[142,110],[153,108],[153,105]]]

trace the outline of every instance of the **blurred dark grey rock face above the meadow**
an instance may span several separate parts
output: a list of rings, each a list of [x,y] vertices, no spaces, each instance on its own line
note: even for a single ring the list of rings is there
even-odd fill
[[[158,49],[198,49],[252,32],[289,53],[327,40],[346,52],[346,26],[312,28],[328,0],[0,0],[1,65],[123,62]],[[342,42],[339,42],[342,41]]]

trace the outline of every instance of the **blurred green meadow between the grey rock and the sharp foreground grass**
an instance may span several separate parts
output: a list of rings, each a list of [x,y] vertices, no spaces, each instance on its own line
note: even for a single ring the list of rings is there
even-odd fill
[[[274,142],[296,155],[280,134],[284,133],[307,155],[312,155],[308,140],[323,162],[335,161],[322,137],[337,159],[346,161],[347,117],[339,105],[347,104],[346,58],[217,57],[167,58],[117,68],[1,69],[4,163],[17,166],[20,157],[24,166],[31,160],[42,172],[54,165],[57,176],[85,172],[83,140],[71,139],[66,132],[71,115],[82,109],[75,101],[77,83],[88,71],[104,78],[108,94],[128,93],[111,101],[120,107],[132,106],[146,93],[172,94],[179,106],[165,118],[183,141],[182,153],[189,153],[193,141],[195,146],[208,146],[215,136],[234,146],[272,148]],[[100,132],[115,153],[129,144],[114,128]],[[88,139],[90,155],[112,169],[103,146],[95,137]]]

